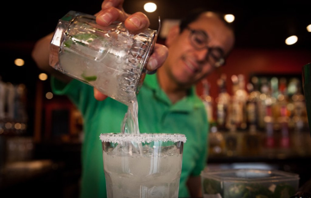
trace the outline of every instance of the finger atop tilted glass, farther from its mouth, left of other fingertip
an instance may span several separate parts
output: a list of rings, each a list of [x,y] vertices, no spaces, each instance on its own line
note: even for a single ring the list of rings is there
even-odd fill
[[[129,15],[115,7],[101,10],[96,14],[96,23],[101,26],[108,26],[114,21],[124,21]]]

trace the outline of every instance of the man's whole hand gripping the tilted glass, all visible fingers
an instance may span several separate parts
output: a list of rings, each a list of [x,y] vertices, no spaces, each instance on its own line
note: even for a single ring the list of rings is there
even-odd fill
[[[96,23],[101,26],[108,26],[118,20],[124,22],[125,27],[130,31],[138,32],[147,29],[150,25],[148,17],[142,12],[136,12],[132,15],[126,13],[123,10],[123,2],[124,0],[104,0],[101,11],[95,14]],[[158,69],[164,63],[167,55],[167,47],[156,43],[146,69],[149,71]],[[94,97],[100,101],[107,98],[96,88],[94,88]]]

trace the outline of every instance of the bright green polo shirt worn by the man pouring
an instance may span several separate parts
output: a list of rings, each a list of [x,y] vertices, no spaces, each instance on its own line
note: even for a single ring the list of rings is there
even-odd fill
[[[127,106],[112,99],[97,101],[93,88],[72,80],[64,84],[51,81],[55,94],[65,94],[81,111],[84,124],[82,144],[81,197],[106,197],[100,133],[119,133]],[[207,115],[193,87],[189,95],[172,104],[157,82],[156,74],[146,75],[137,95],[138,124],[141,133],[183,133],[179,197],[190,197],[186,187],[189,175],[199,176],[207,161]]]

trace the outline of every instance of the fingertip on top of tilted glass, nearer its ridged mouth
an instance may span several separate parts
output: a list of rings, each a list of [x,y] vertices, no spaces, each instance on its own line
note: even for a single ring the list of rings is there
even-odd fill
[[[148,17],[142,12],[136,12],[124,21],[124,25],[128,30],[140,31],[149,27],[150,21]]]

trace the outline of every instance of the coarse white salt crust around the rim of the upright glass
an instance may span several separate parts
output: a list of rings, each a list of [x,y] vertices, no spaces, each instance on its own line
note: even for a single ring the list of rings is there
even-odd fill
[[[184,134],[169,134],[169,133],[141,133],[141,134],[123,134],[123,133],[101,133],[100,140],[102,142],[147,142],[152,141],[171,141],[171,142],[186,142],[187,138]]]

